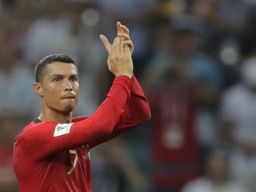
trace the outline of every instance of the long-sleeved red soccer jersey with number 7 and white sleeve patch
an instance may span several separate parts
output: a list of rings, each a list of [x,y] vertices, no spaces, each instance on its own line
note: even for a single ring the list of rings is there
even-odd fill
[[[74,118],[70,124],[28,124],[14,142],[20,191],[91,192],[90,148],[149,117],[148,101],[135,76],[118,76],[92,116]]]

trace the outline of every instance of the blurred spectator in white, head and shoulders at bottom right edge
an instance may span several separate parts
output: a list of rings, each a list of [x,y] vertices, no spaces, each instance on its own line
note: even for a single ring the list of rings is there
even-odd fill
[[[204,176],[192,180],[181,192],[249,192],[230,173],[228,153],[213,149],[206,158]]]

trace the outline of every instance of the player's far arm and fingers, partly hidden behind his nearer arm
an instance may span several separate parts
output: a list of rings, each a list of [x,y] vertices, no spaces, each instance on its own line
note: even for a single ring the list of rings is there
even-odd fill
[[[122,25],[119,21],[116,23],[116,28],[117,36],[120,37],[122,43],[129,48],[129,53],[132,57],[134,47],[129,35],[129,29]],[[111,47],[111,44],[108,42],[108,38],[106,36],[101,36],[100,38],[102,43],[105,45],[106,50],[108,51],[109,47]],[[147,122],[150,117],[151,112],[148,105],[148,100],[145,97],[145,94],[142,91],[137,78],[132,75],[131,98],[127,101],[127,105],[124,108],[124,113],[116,124],[115,129],[113,132],[111,132],[110,135],[108,135],[108,137],[101,137],[99,140],[94,140],[92,143],[90,143],[90,148],[93,148],[107,140],[111,140],[117,135],[132,129],[133,127]]]

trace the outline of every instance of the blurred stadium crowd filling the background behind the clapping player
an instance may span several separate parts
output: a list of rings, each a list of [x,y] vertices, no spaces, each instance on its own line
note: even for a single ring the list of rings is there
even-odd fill
[[[0,192],[18,191],[12,144],[39,115],[34,66],[77,63],[76,116],[113,76],[100,34],[130,29],[148,124],[92,149],[94,192],[256,192],[256,1],[0,0]]]

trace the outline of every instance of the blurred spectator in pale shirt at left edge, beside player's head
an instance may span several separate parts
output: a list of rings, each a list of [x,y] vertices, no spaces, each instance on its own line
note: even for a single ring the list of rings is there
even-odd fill
[[[31,91],[33,71],[24,67],[26,60],[20,57],[19,46],[14,43],[7,32],[0,39],[0,116],[16,116],[25,124],[40,106],[36,93]]]

